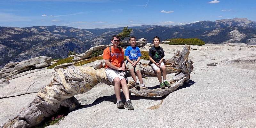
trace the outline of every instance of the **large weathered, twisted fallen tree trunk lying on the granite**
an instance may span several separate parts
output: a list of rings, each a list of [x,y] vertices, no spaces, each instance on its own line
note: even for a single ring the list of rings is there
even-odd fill
[[[177,51],[172,59],[165,60],[167,74],[176,73],[169,81],[170,88],[165,89],[139,89],[134,87],[135,82],[128,83],[129,91],[135,95],[153,97],[164,96],[175,91],[184,82],[188,83],[190,73],[193,70],[193,61],[188,57],[190,46],[185,45],[182,52]],[[102,82],[107,85],[111,83],[108,81],[104,68],[99,68],[98,65],[93,67],[78,67],[69,66],[66,69],[56,69],[56,74],[52,76],[52,81],[45,87],[43,92],[38,92],[38,96],[29,105],[28,108],[22,110],[16,118],[8,121],[3,125],[7,127],[33,127],[44,121],[45,117],[51,117],[58,113],[62,107],[68,107],[70,111],[79,107],[79,103],[73,97],[77,94],[82,94],[91,90],[96,84]],[[149,63],[142,64],[142,74],[144,76],[156,76]],[[100,66],[101,67],[101,66]]]

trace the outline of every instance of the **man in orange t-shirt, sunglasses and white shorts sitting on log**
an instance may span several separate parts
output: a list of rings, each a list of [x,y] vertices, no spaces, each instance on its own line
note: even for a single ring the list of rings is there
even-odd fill
[[[124,63],[124,51],[119,47],[120,37],[117,35],[112,36],[111,43],[111,53],[110,47],[107,47],[103,51],[103,59],[105,60],[105,72],[110,83],[114,86],[117,108],[128,108],[128,110],[133,110],[132,102],[130,100],[129,89],[127,86],[128,80],[121,73],[125,71]],[[126,99],[125,105],[121,100],[121,86]]]

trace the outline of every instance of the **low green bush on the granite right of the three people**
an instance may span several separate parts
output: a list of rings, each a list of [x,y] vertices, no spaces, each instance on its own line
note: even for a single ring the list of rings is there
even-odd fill
[[[183,38],[175,38],[175,39],[168,39],[166,41],[171,41],[168,42],[166,44],[170,44],[170,45],[199,45],[202,46],[204,45],[204,41],[197,39],[197,38],[187,38],[187,39],[183,39]]]

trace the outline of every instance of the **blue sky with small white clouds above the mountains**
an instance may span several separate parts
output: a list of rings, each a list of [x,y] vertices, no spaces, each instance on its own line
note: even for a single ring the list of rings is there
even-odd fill
[[[256,21],[256,0],[0,0],[0,26],[117,28]]]

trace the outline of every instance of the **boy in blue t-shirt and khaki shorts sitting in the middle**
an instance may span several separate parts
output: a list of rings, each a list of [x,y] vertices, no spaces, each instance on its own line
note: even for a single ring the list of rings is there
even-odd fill
[[[124,55],[126,56],[126,60],[127,60],[127,67],[128,70],[132,76],[132,79],[135,81],[135,87],[142,87],[145,88],[146,85],[143,84],[142,81],[142,75],[141,75],[141,71],[142,68],[140,66],[140,57],[141,57],[141,53],[140,53],[140,48],[136,46],[136,37],[135,36],[131,36],[129,39],[131,46],[127,47],[125,49],[125,53]],[[135,72],[138,76],[138,79],[140,81],[137,81]]]

